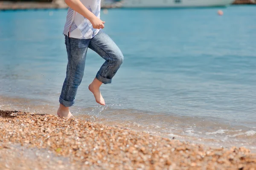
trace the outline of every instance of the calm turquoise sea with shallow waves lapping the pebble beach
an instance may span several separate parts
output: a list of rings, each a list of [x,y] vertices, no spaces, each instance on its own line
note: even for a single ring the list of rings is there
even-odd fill
[[[125,61],[102,86],[104,62],[87,54],[71,110],[78,118],[163,136],[256,148],[256,7],[111,9],[105,32]],[[0,109],[55,114],[65,78],[66,10],[0,12]]]

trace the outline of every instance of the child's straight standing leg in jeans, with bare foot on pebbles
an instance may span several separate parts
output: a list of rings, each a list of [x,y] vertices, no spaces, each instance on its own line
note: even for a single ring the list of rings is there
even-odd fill
[[[73,117],[69,107],[75,103],[76,92],[84,75],[85,58],[89,43],[90,39],[84,40],[65,36],[68,63],[66,78],[59,98],[60,107],[57,112],[61,117]]]

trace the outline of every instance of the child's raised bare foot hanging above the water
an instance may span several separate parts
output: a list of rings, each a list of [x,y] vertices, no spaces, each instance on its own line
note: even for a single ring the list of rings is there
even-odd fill
[[[105,100],[102,97],[99,87],[102,85],[98,79],[94,78],[93,82],[89,85],[89,90],[93,93],[95,100],[98,104],[105,105]]]

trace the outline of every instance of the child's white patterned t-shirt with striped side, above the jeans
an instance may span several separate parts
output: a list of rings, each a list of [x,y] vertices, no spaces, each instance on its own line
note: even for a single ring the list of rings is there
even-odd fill
[[[81,3],[96,17],[100,18],[100,4],[101,0],[80,0]],[[99,29],[94,29],[90,21],[74,11],[68,8],[67,20],[64,26],[64,35],[79,39],[90,39],[99,32]]]

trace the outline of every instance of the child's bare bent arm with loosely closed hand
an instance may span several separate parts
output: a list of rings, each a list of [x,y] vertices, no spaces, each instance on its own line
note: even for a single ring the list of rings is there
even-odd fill
[[[78,12],[79,14],[86,17],[90,22],[93,24],[94,29],[103,29],[104,28],[104,21],[100,20],[96,17],[92,12],[90,12],[81,2],[80,0],[65,0],[65,3]]]

